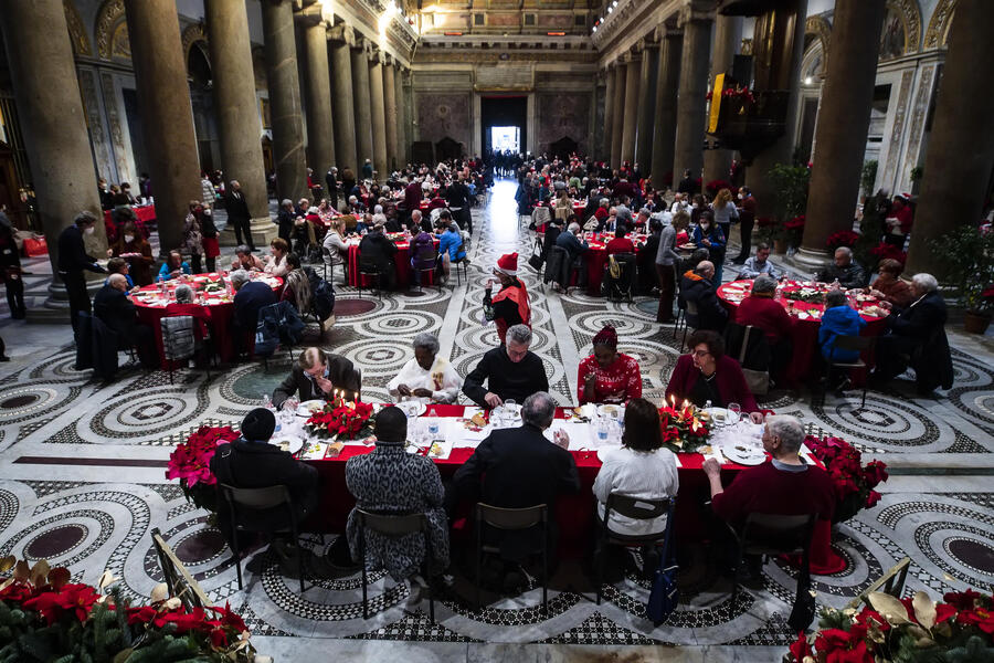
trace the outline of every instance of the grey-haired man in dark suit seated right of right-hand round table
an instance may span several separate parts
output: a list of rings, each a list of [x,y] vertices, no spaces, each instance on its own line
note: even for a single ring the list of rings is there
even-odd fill
[[[952,388],[945,302],[938,291],[939,282],[931,274],[911,277],[913,301],[907,308],[892,308],[887,317],[888,332],[877,339],[875,381],[891,380],[911,366],[920,394],[927,396],[939,387]],[[889,302],[881,306],[891,308]]]

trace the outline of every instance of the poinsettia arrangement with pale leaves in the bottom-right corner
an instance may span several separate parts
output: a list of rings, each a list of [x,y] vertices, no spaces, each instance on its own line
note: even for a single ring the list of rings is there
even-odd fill
[[[792,663],[917,663],[994,660],[994,597],[966,590],[935,603],[923,591],[896,599],[881,592],[869,607],[826,609],[818,631],[791,644]]]

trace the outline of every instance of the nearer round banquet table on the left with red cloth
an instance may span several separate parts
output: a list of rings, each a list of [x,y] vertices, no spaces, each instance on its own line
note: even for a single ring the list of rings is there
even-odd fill
[[[283,286],[283,278],[269,276],[257,272],[250,272],[253,281],[262,281],[274,291]],[[223,290],[205,293],[203,288],[208,283],[222,283]],[[134,296],[135,308],[138,311],[138,320],[152,328],[156,339],[156,349],[159,351],[159,360],[162,368],[169,368],[166,355],[162,350],[162,327],[159,324],[166,317],[166,306],[176,302],[176,288],[179,285],[189,285],[193,288],[194,303],[208,308],[211,314],[211,334],[214,339],[214,349],[222,361],[231,361],[235,357],[234,335],[231,333],[234,318],[234,290],[228,275],[218,273],[197,274],[166,282],[166,296],[159,292],[157,285],[147,285],[140,288]]]

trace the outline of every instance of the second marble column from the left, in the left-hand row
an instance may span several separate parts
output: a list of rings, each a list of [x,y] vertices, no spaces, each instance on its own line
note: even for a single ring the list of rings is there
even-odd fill
[[[125,0],[125,13],[138,109],[149,137],[159,251],[166,255],[182,244],[190,200],[202,196],[187,63],[173,0]]]

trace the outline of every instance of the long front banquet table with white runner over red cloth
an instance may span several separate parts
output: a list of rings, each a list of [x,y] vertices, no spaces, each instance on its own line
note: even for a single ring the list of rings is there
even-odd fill
[[[593,406],[590,407],[593,408]],[[434,422],[440,425],[440,431],[435,435],[429,435],[427,440],[444,439],[446,444],[452,444],[452,450],[447,455],[443,454],[444,457],[433,459],[443,481],[452,478],[456,470],[473,455],[476,445],[489,433],[489,425],[480,431],[470,431],[466,428],[465,419],[478,411],[475,407],[431,404],[422,417],[413,420],[416,423],[412,425],[409,422],[409,440],[415,439],[419,434],[412,430],[414,427],[420,427],[423,434],[426,427]],[[339,455],[325,457],[325,445],[320,441],[308,438],[304,428],[306,418],[298,415],[294,419],[292,424],[284,424],[283,436],[297,435],[308,439],[304,452],[299,455],[304,462],[318,471],[320,477],[320,502],[315,511],[315,516],[305,524],[304,529],[345,532],[349,512],[356,504],[345,482],[346,462],[350,457],[370,453],[374,446],[372,443],[367,444],[366,442],[347,442]],[[515,423],[515,425],[519,424],[520,420]],[[750,427],[753,424],[741,422],[738,425]],[[547,436],[551,435],[553,430],[565,430],[570,434],[570,453],[573,455],[580,476],[580,491],[574,494],[561,495],[556,503],[554,517],[559,528],[558,555],[580,558],[589,554],[595,537],[594,507],[596,501],[592,493],[592,486],[601,467],[598,451],[599,449],[618,448],[620,441],[613,433],[612,439],[600,443],[592,423],[577,421],[572,418],[570,410],[562,408],[557,409],[556,420],[552,428],[547,431]],[[274,440],[277,438],[278,434],[274,436]],[[429,443],[425,442],[424,449],[419,453],[425,452]],[[802,454],[808,462],[823,466],[806,448],[802,449]],[[743,465],[729,461],[720,451],[715,452],[715,455],[722,462],[723,485],[728,485],[738,472],[745,469]],[[701,470],[705,457],[700,453],[677,454],[680,485],[674,522],[677,541],[681,539],[698,540],[708,536],[702,517],[704,504],[710,498],[708,478]],[[465,535],[470,508],[469,504],[462,504],[457,508],[453,522],[454,537]],[[827,520],[819,522],[812,541],[813,572],[831,573],[845,567],[845,560],[832,550],[831,537],[831,524]]]

